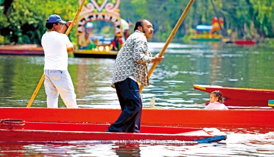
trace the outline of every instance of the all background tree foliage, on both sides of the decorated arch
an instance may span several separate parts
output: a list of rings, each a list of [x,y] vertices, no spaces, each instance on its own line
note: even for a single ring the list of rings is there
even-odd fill
[[[6,1],[11,1],[7,7]],[[88,1],[88,0],[86,0]],[[103,0],[97,0],[103,2]],[[116,1],[116,0],[113,0]],[[154,27],[152,40],[165,41],[184,11],[188,0],[121,0],[122,18],[149,19]],[[38,44],[45,33],[45,21],[51,14],[72,20],[78,0],[1,0],[0,35],[4,44]],[[6,14],[6,8],[9,8]],[[273,0],[195,0],[173,41],[193,33],[197,24],[211,24],[213,16],[224,19],[224,31],[238,38],[274,38]],[[230,30],[230,31],[227,31]],[[76,42],[76,28],[70,38]]]

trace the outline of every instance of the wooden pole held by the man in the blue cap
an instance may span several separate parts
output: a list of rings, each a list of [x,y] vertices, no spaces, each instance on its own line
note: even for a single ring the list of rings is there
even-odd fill
[[[86,0],[82,0],[81,4],[80,4],[80,6],[79,6],[79,8],[78,8],[78,10],[77,10],[77,12],[76,12],[76,15],[74,16],[74,18],[73,18],[71,24],[69,25],[69,27],[68,27],[68,29],[67,29],[67,31],[66,31],[66,33],[65,33],[66,35],[69,34],[71,28],[73,27],[73,25],[74,25],[74,23],[75,23],[75,21],[76,21],[78,15],[79,15],[79,13],[81,12],[82,7],[84,6],[85,1],[86,1]],[[42,85],[44,79],[45,79],[45,74],[42,75],[40,81],[38,82],[38,85],[37,85],[36,89],[34,90],[34,92],[33,92],[32,96],[31,96],[30,100],[28,101],[28,104],[27,104],[26,107],[30,107],[30,106],[31,106],[31,104],[32,104],[32,102],[33,102],[35,96],[37,95],[37,93],[38,93],[38,91],[39,91],[39,89],[40,89],[40,87],[41,87],[41,85]]]

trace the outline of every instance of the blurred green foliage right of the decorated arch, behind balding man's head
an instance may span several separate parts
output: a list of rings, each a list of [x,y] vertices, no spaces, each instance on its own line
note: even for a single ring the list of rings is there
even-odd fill
[[[156,41],[164,41],[168,38],[189,2],[188,0],[125,1],[127,5],[131,3],[134,8],[135,14],[130,11],[130,15],[151,19],[155,29],[153,38]],[[237,38],[241,39],[273,38],[272,8],[274,8],[273,0],[195,0],[173,40],[179,40],[182,36],[193,33],[193,28],[198,24],[212,24],[214,16],[224,19],[225,36],[235,32]],[[133,21],[136,20],[137,18]]]

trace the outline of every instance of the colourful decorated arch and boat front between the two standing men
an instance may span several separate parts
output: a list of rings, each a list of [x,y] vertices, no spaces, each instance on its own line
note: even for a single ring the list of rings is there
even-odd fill
[[[79,0],[81,3],[81,0]],[[77,45],[74,51],[75,57],[91,57],[91,58],[116,58],[118,51],[113,51],[113,44],[111,41],[115,38],[124,36],[128,23],[120,17],[120,0],[89,0],[82,8],[77,20]],[[113,36],[105,37],[91,37],[89,34],[93,29],[95,21],[108,21],[113,23],[114,32]],[[126,25],[126,26],[125,26]],[[92,42],[88,46],[81,46],[81,38],[87,36]],[[85,40],[86,40],[85,39]],[[121,42],[122,43],[122,42]]]

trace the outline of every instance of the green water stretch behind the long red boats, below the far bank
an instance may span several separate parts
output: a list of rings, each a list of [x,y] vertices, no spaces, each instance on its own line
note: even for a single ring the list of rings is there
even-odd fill
[[[164,43],[149,43],[153,55]],[[152,96],[164,108],[204,108],[209,94],[193,84],[274,89],[274,48],[221,43],[170,44],[164,60],[144,87],[143,104]],[[120,108],[110,87],[115,60],[69,58],[77,103],[85,108]],[[43,56],[0,56],[0,106],[25,107],[43,74]],[[151,65],[150,65],[151,66]],[[31,107],[46,107],[42,84]],[[59,97],[59,107],[65,107]]]

